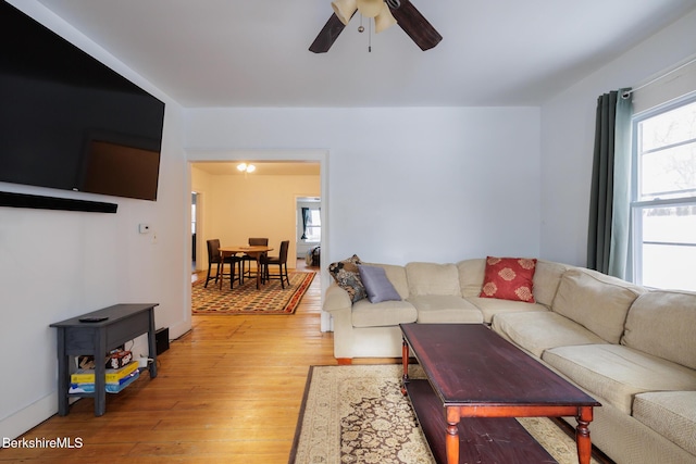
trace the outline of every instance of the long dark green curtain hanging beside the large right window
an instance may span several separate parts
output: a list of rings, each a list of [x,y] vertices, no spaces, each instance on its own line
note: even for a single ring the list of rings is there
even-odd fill
[[[587,267],[626,278],[630,242],[631,92],[599,96],[589,198]]]

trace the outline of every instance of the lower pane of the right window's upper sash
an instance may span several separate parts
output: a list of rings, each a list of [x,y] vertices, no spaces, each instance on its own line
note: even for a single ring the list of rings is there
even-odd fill
[[[641,200],[696,195],[696,142],[641,156]]]

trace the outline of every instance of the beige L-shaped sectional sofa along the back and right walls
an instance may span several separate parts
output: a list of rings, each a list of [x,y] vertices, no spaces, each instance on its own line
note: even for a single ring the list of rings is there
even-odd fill
[[[696,293],[538,260],[527,303],[480,297],[485,259],[369,265],[400,300],[332,285],[337,359],[400,356],[401,323],[484,323],[602,404],[592,439],[614,462],[696,463]]]

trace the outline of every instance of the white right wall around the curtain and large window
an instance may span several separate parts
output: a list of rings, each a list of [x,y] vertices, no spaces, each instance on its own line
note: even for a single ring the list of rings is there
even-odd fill
[[[695,54],[693,12],[542,106],[542,256],[586,264],[597,97],[647,83]]]

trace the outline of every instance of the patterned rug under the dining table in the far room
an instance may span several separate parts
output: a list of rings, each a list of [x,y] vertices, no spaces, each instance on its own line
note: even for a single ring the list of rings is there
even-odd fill
[[[222,290],[214,280],[204,287],[206,279],[197,280],[191,288],[191,310],[194,314],[294,314],[302,296],[312,284],[313,272],[290,272],[290,285],[281,288],[279,280],[271,280],[257,290],[257,279],[248,278],[229,289],[225,279]]]

